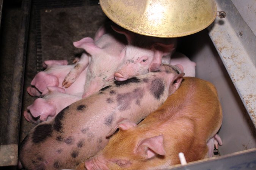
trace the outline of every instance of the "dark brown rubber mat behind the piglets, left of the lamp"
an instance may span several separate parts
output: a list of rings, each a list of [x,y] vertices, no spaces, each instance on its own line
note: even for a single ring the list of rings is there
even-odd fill
[[[72,42],[93,37],[106,19],[98,3],[99,0],[35,1],[37,71],[42,71],[44,60],[74,59],[72,56],[79,50]]]

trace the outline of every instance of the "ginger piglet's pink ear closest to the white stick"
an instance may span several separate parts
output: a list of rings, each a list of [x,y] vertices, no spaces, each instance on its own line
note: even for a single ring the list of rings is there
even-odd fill
[[[135,151],[140,155],[146,155],[147,159],[152,158],[155,155],[165,155],[163,135],[161,134],[140,141]]]

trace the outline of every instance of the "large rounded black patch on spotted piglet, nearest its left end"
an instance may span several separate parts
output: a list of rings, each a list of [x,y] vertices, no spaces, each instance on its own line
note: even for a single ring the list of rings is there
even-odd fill
[[[51,124],[41,124],[36,126],[33,134],[32,141],[35,144],[44,142],[47,138],[52,136],[52,125]]]

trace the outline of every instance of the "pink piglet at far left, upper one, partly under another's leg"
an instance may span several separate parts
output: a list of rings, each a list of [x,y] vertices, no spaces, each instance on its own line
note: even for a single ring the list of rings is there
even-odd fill
[[[84,60],[88,60],[89,58],[87,54],[83,53],[81,56]],[[63,82],[65,76],[69,73],[69,71],[75,67],[75,65],[67,65],[68,62],[66,60],[47,60],[43,63],[44,68],[46,70],[40,71],[34,79],[31,81],[31,87],[27,88],[27,92],[31,96],[42,97],[47,94],[47,87],[59,87]],[[79,79],[74,82],[74,84],[69,88],[63,88],[65,93],[72,95],[80,95],[83,92],[83,86],[85,84],[85,74],[87,69],[83,70],[83,74],[79,76]],[[46,90],[46,91],[45,91]]]

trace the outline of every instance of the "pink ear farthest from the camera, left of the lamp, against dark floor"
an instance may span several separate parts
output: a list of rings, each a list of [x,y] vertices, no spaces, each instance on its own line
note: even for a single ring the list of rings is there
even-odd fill
[[[73,45],[76,48],[84,49],[89,54],[93,54],[97,52],[99,49],[101,49],[95,44],[94,40],[90,37],[85,37],[82,40],[74,42]]]

